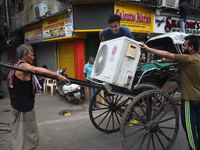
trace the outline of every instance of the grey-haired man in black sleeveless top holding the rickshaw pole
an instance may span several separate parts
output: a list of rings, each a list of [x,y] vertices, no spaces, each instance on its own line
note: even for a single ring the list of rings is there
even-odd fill
[[[33,47],[22,44],[17,48],[18,62],[16,67],[36,74],[50,75],[60,82],[70,82],[66,77],[42,67],[31,64],[35,58]],[[40,86],[35,75],[11,70],[8,78],[8,89],[11,100],[11,135],[13,150],[32,150],[38,146],[39,133],[35,117],[35,94]]]

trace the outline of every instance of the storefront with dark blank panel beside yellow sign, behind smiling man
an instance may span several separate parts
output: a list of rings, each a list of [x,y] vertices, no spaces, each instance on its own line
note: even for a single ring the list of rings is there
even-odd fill
[[[99,47],[99,31],[108,27],[111,14],[121,16],[121,26],[128,27],[135,40],[146,40],[153,33],[153,8],[125,2],[73,4],[74,32],[87,32],[84,40],[85,63],[87,54],[96,54]]]

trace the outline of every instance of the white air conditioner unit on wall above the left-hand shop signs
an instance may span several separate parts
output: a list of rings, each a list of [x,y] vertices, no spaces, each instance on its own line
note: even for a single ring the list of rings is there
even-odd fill
[[[46,16],[46,13],[48,12],[47,4],[46,3],[40,3],[35,7],[35,16],[36,18],[40,18],[43,16]]]

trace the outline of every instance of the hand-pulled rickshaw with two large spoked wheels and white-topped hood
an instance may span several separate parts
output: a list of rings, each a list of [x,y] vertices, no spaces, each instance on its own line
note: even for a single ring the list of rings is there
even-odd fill
[[[180,54],[185,36],[163,34],[148,40],[147,44]],[[172,98],[178,90],[179,66],[160,59],[140,68],[130,90],[109,85],[96,91],[89,107],[91,122],[106,133],[121,129],[121,143],[126,150],[170,149],[179,129],[179,113]],[[103,99],[96,102],[98,108],[93,107],[96,97]]]

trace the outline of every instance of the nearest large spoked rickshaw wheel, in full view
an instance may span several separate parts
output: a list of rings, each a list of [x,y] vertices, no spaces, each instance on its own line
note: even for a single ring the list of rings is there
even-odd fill
[[[168,150],[178,129],[179,114],[173,99],[161,91],[149,90],[135,97],[126,109],[121,143],[125,150]]]

